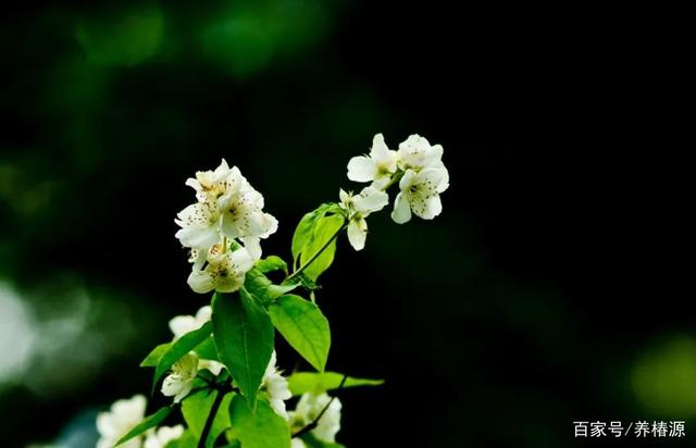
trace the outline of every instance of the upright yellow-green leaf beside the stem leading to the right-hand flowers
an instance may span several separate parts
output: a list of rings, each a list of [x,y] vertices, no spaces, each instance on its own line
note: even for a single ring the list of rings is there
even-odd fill
[[[335,236],[344,223],[345,219],[343,216],[334,214],[320,219],[314,225],[312,238],[307,241],[300,253],[300,265],[306,265],[318,252],[323,251],[304,269],[303,273],[309,278],[316,281],[322,272],[331,266],[331,263],[334,261],[334,253],[336,252]],[[324,248],[326,244],[328,244],[328,246]]]

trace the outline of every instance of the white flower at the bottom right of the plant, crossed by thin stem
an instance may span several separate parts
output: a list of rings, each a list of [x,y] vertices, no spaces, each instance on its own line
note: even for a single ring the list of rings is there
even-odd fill
[[[328,402],[331,401],[331,405]],[[313,422],[322,412],[324,407],[326,412],[316,422],[316,427],[312,430],[312,434],[319,440],[335,443],[336,433],[340,430],[340,408],[341,403],[338,398],[334,398],[326,394],[313,395],[304,394],[297,403],[297,408],[290,414],[293,427],[301,428]]]

